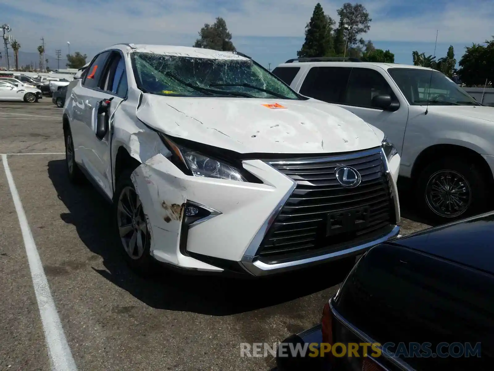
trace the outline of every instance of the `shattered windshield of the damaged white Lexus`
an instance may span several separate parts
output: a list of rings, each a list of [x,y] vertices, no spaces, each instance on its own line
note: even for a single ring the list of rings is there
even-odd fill
[[[300,99],[251,59],[213,59],[134,52],[137,83],[146,93]]]

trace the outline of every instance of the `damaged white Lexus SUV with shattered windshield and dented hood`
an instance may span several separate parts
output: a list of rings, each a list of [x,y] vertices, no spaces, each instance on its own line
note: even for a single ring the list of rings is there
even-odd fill
[[[113,203],[138,271],[265,276],[348,262],[399,233],[393,144],[244,54],[114,45],[71,85],[69,178]]]

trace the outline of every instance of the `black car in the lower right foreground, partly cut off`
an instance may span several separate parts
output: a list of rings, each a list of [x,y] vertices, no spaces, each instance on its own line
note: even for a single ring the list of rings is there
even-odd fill
[[[493,241],[494,212],[372,247],[278,371],[492,370]]]

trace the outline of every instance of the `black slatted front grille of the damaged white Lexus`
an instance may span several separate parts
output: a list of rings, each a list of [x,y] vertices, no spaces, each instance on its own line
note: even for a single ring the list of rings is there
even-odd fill
[[[264,260],[280,260],[319,250],[343,249],[391,230],[395,222],[390,185],[380,151],[341,160],[325,157],[297,160],[269,160],[271,166],[297,182],[287,203],[266,233],[258,250]],[[280,163],[283,162],[283,163]],[[362,182],[344,188],[336,180],[339,165],[356,169]],[[356,220],[342,226],[344,213]],[[329,222],[329,219],[331,222]]]

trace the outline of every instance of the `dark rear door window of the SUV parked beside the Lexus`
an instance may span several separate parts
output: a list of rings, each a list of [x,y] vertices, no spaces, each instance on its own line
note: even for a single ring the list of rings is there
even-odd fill
[[[351,67],[312,67],[300,94],[328,103],[342,103]]]

